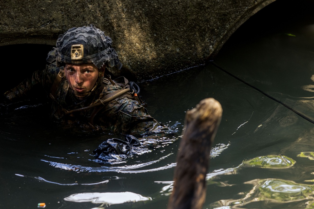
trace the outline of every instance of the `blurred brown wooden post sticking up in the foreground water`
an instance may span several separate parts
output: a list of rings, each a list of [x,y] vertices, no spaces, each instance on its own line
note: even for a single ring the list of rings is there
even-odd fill
[[[210,147],[221,116],[221,105],[213,98],[203,99],[195,108],[187,111],[168,209],[202,208],[206,196],[205,177]]]

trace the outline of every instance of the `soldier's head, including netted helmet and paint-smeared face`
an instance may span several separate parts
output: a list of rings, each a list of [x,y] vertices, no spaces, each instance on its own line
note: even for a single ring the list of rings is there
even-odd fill
[[[69,29],[59,38],[47,61],[64,66],[64,74],[72,92],[86,97],[101,86],[106,67],[122,64],[111,46],[111,38],[94,25]]]

